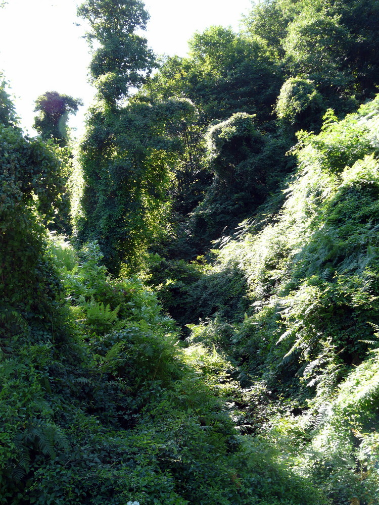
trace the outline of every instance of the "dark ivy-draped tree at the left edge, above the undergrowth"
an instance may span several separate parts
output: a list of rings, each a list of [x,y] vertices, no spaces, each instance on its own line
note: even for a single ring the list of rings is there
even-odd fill
[[[60,162],[40,140],[14,126],[11,100],[0,85],[0,334],[38,341],[52,328],[58,280],[44,254],[43,222],[60,207]],[[50,330],[49,330],[50,331]],[[21,338],[21,337],[20,337]]]

